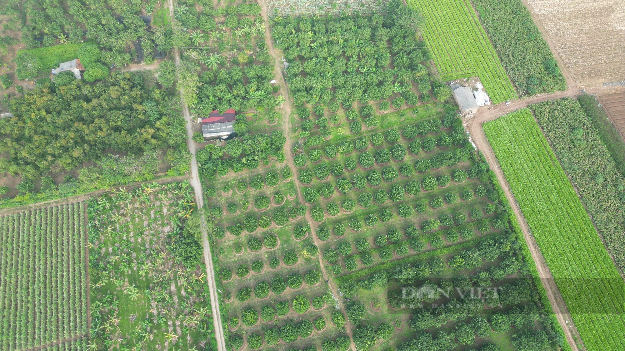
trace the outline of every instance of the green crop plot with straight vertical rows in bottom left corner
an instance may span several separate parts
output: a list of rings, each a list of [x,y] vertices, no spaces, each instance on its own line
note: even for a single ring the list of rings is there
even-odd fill
[[[0,349],[87,332],[84,204],[0,217]]]

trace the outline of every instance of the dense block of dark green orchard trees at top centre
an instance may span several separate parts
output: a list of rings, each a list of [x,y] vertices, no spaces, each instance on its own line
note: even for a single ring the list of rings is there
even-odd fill
[[[348,108],[354,101],[387,99],[397,92],[409,99],[416,97],[412,82],[429,90],[421,64],[429,54],[414,29],[419,22],[417,12],[399,1],[391,1],[384,15],[277,17],[272,35],[289,62],[294,104],[336,99]],[[391,59],[395,70],[389,68]],[[359,122],[352,131],[355,127],[361,127]]]

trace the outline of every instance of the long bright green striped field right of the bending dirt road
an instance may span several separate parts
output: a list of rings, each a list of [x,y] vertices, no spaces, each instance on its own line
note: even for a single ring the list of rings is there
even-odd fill
[[[622,349],[625,284],[531,112],[484,131],[586,349]]]

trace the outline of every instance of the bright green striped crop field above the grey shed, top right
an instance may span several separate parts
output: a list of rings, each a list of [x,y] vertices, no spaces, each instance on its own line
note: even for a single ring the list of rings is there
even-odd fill
[[[495,104],[518,99],[467,0],[409,0],[425,22],[422,36],[442,81],[478,76]]]

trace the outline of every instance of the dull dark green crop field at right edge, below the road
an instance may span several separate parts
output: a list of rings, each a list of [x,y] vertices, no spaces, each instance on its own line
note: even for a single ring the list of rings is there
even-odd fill
[[[586,108],[604,113],[592,96],[586,97],[589,98],[585,101]],[[558,159],[563,160],[562,167],[586,204],[617,269],[625,271],[625,178],[595,128],[602,121],[591,122],[574,99],[545,101],[530,109]],[[605,115],[592,118],[601,117],[607,120]],[[617,133],[609,122],[607,127]],[[623,145],[620,138],[617,141]]]

